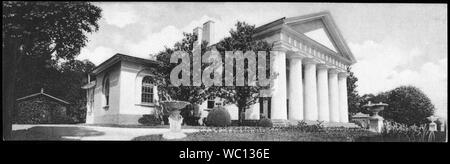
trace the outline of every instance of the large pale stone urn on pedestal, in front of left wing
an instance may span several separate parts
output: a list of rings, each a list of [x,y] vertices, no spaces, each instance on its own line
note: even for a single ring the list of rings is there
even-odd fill
[[[183,123],[183,117],[180,115],[181,109],[188,105],[185,101],[162,101],[162,106],[167,110],[169,115],[169,127],[170,131],[163,134],[165,139],[180,139],[186,137],[181,131],[181,124]]]

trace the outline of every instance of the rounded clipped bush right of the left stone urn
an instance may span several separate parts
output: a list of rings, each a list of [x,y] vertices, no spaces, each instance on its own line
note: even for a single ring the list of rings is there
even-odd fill
[[[231,116],[224,107],[215,107],[206,117],[207,126],[229,126],[231,125]]]

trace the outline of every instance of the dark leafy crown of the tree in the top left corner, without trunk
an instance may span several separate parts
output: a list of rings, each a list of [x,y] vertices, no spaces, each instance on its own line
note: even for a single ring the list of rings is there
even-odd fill
[[[17,39],[21,55],[74,59],[98,30],[101,9],[88,2],[3,2],[3,41]],[[6,40],[5,40],[6,39]]]

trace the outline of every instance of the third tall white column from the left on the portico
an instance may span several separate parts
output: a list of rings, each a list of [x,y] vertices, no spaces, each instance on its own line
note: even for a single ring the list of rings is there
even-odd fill
[[[304,117],[305,120],[316,121],[319,119],[317,110],[317,81],[316,64],[311,59],[305,59],[305,95],[304,95]]]

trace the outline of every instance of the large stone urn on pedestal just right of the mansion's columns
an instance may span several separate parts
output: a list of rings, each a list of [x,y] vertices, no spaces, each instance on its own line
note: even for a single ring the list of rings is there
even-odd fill
[[[384,107],[388,106],[386,103],[372,103],[369,101],[368,104],[364,105],[368,111],[372,112],[373,115],[369,118],[369,130],[377,133],[381,133],[383,129],[384,118],[378,115],[379,112],[384,110]]]

